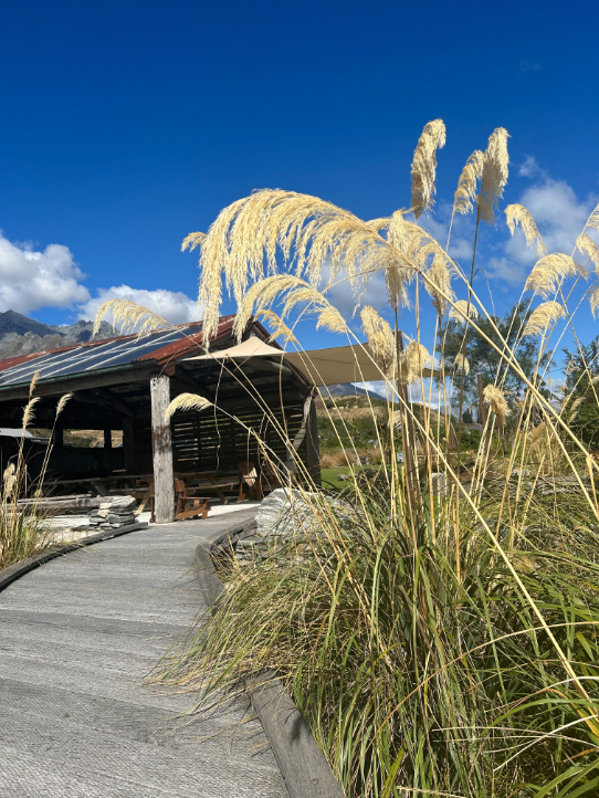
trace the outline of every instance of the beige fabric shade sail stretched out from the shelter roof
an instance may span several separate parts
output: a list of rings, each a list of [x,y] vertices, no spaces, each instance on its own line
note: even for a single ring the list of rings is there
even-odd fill
[[[370,382],[385,379],[380,368],[372,361],[368,350],[359,345],[335,346],[329,349],[308,349],[306,351],[283,351],[270,346],[258,337],[248,338],[229,349],[209,355],[190,357],[187,360],[245,360],[254,357],[280,357],[302,371],[315,386],[336,385],[338,382]],[[438,371],[423,369],[424,378],[438,376]]]

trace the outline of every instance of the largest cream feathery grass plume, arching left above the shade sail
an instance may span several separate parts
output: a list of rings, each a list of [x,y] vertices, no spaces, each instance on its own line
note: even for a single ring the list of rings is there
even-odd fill
[[[251,283],[279,272],[277,252],[313,286],[328,264],[330,282],[344,270],[353,287],[358,274],[385,269],[392,254],[368,222],[332,202],[295,191],[255,191],[220,212],[201,246],[204,346],[218,324],[223,277],[241,305]]]

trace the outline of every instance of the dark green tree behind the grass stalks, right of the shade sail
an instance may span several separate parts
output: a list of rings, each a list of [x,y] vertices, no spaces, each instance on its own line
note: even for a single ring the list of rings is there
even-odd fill
[[[530,315],[527,309],[527,303],[519,303],[514,305],[512,309],[505,314],[503,318],[498,316],[492,316],[493,323],[497,327],[501,336],[512,350],[512,354],[517,359],[524,374],[532,379],[537,366],[538,358],[538,336],[526,336],[522,337],[522,329],[526,319]],[[493,329],[493,325],[490,319],[481,316],[476,321],[476,325],[481,330],[494,342],[500,349],[502,348],[501,339]],[[453,369],[453,363],[456,355],[461,351],[465,351],[465,356],[470,363],[470,374],[464,378],[464,403],[479,403],[479,392],[476,389],[476,375],[482,374],[483,384],[486,386],[490,382],[494,382],[497,372],[502,370],[502,375],[505,372],[505,361],[502,361],[500,354],[485,340],[483,335],[479,330],[474,329],[472,325],[469,325],[465,350],[462,348],[464,340],[465,324],[450,319],[444,326],[441,327],[440,336],[440,349],[444,351],[445,360],[445,375],[450,376]],[[516,345],[516,338],[519,342]],[[444,342],[444,343],[443,343]],[[542,369],[547,366],[551,353],[546,354],[542,360]],[[460,386],[462,380],[461,372],[456,372],[455,385]],[[524,393],[525,382],[514,372],[513,369],[508,369],[507,377],[504,382],[504,391],[511,397],[519,397]],[[540,388],[545,389],[545,385],[542,384]],[[545,390],[544,390],[545,392]]]

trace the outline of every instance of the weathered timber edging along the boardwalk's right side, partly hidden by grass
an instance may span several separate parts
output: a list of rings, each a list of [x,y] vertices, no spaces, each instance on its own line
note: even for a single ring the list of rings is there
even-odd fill
[[[214,569],[213,557],[222,556],[246,534],[235,526],[207,536],[196,548],[198,580],[208,607],[213,607],[224,588]],[[325,755],[318,747],[292,696],[267,672],[249,684],[252,704],[262,722],[290,798],[345,798]]]

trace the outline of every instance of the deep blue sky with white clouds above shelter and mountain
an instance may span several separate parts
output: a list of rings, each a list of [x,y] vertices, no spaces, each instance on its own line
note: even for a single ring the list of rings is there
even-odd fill
[[[409,206],[413,148],[438,117],[448,144],[423,224],[442,240],[465,159],[504,126],[505,202],[528,203],[569,252],[599,200],[598,17],[581,2],[4,4],[0,309],[71,323],[120,292],[183,321],[188,232],[263,187],[362,218]],[[467,263],[472,220],[455,233]],[[502,219],[479,265],[504,312],[532,256]],[[581,329],[596,333],[587,311]]]

